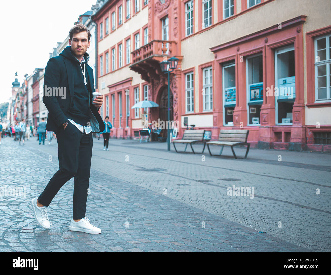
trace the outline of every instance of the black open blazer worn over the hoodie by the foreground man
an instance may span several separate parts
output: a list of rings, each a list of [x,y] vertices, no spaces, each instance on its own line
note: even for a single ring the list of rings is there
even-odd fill
[[[99,108],[92,104],[92,92],[94,89],[93,69],[85,64],[87,75],[91,87],[89,116],[92,126],[92,133],[100,133],[105,130],[105,124],[100,114]],[[44,72],[44,87],[42,101],[48,110],[47,131],[56,132],[68,118],[65,113],[73,103],[73,68],[72,63],[66,57],[59,55],[48,60]],[[45,89],[46,87],[46,89]],[[49,89],[51,88],[51,90]],[[62,96],[61,91],[62,90]]]

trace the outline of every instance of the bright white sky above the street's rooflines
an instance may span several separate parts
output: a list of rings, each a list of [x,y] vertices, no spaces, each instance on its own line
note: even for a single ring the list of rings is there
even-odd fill
[[[49,52],[63,42],[78,17],[96,0],[16,0],[1,2],[3,27],[0,46],[0,103],[8,102],[12,82],[45,68]]]

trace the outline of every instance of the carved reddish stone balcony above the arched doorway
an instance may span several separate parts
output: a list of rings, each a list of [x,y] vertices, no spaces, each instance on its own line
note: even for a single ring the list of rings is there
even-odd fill
[[[160,62],[177,55],[177,43],[168,40],[152,40],[131,52],[132,65],[129,68],[140,74],[141,79],[150,82],[151,78],[160,80],[163,74]]]

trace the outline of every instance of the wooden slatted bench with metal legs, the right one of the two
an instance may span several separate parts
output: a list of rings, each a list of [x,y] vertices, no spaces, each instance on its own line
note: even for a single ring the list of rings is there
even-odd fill
[[[216,155],[216,156],[220,156],[222,154],[224,146],[231,146],[232,153],[233,153],[234,157],[237,159],[237,156],[233,150],[233,146],[247,145],[246,155],[244,157],[244,158],[247,158],[247,154],[248,154],[248,150],[249,150],[249,146],[250,146],[250,143],[247,143],[248,132],[249,132],[249,130],[221,130],[219,132],[218,141],[217,140],[208,141],[206,143],[210,155],[213,156],[209,149],[209,145],[222,146],[221,152],[219,153],[219,155]]]

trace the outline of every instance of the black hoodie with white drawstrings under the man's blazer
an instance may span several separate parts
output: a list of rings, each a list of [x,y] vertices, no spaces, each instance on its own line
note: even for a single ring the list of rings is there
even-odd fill
[[[84,61],[82,63],[79,62],[79,60],[73,56],[71,46],[66,47],[59,55],[69,59],[73,67],[73,101],[65,115],[75,123],[87,126],[87,123],[90,123],[91,119],[88,115],[90,104],[89,92],[91,92],[91,88],[85,67],[90,56],[88,53],[85,53]],[[83,71],[85,71],[85,79],[83,77]]]

